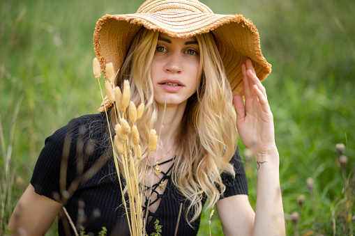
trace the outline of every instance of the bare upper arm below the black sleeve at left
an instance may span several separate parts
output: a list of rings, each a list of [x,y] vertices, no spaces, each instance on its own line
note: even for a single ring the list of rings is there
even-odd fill
[[[36,194],[29,184],[8,223],[11,235],[45,235],[63,205]]]

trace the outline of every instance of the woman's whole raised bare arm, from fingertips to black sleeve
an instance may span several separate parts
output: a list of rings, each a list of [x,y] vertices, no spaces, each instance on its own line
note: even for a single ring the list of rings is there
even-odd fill
[[[257,162],[255,218],[246,196],[218,201],[218,215],[226,235],[285,235],[285,219],[279,180],[279,155],[275,145],[273,115],[266,91],[248,58],[241,67],[246,103],[234,96],[236,126],[243,144]],[[235,220],[232,220],[235,219]]]

